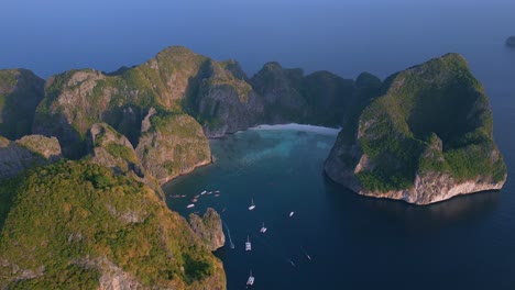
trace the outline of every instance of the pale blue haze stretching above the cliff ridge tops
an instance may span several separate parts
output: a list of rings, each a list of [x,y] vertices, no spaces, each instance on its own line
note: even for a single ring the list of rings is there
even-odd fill
[[[512,0],[10,0],[0,2],[0,68],[44,78],[70,68],[111,71],[184,45],[235,58],[249,75],[277,60],[306,72],[383,78],[448,52],[474,59],[503,46],[515,34],[514,11]]]

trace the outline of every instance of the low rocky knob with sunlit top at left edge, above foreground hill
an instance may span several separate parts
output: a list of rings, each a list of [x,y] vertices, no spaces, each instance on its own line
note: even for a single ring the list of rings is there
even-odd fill
[[[0,136],[0,178],[17,176],[28,168],[51,164],[61,157],[61,146],[55,137],[29,135],[13,142]]]

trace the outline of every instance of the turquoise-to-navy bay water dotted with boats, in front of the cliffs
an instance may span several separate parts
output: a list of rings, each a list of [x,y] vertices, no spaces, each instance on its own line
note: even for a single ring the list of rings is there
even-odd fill
[[[216,252],[229,289],[243,288],[251,269],[255,289],[515,286],[513,226],[502,222],[502,193],[429,207],[359,197],[322,175],[335,138],[287,130],[229,135],[211,141],[216,164],[165,187],[167,196],[187,196],[167,200],[185,216],[207,207],[221,212],[234,244]],[[186,209],[202,190],[220,190],[220,197],[200,196]],[[244,252],[248,236],[252,252]]]

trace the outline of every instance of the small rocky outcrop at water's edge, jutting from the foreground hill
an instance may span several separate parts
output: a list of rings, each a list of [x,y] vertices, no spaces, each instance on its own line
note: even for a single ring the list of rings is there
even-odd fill
[[[208,249],[217,250],[226,244],[222,222],[216,210],[208,208],[202,217],[189,214],[189,225]]]

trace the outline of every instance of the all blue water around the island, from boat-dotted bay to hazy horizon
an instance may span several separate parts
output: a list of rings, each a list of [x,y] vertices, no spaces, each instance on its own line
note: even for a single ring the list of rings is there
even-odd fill
[[[504,47],[515,34],[514,11],[513,0],[6,0],[0,67],[44,78],[70,68],[109,71],[178,44],[235,58],[249,75],[277,60],[307,72],[384,78],[460,53],[490,97],[511,175],[501,192],[424,208],[357,197],[321,175],[331,138],[292,132],[212,141],[219,163],[167,190],[222,190],[219,201],[199,205],[227,208],[237,248],[217,255],[229,289],[240,289],[250,267],[256,289],[515,289],[515,49]],[[252,196],[255,212],[245,210]],[[262,221],[270,232],[253,236]],[[242,253],[249,231],[254,250]]]

